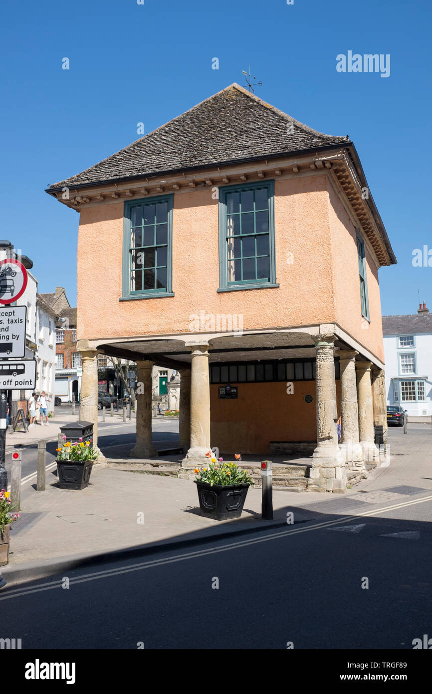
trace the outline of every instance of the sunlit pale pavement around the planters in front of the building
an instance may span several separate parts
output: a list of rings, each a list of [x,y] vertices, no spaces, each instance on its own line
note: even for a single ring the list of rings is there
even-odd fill
[[[241,518],[221,522],[200,516],[196,485],[189,480],[98,464],[87,489],[72,491],[58,488],[51,470],[46,491],[31,489],[21,503],[23,514],[11,527],[10,564],[1,571],[12,586],[83,563],[286,527],[288,513],[294,523],[305,523],[327,514],[352,517],[365,509],[390,508],[405,499],[430,496],[431,429],[413,424],[405,435],[400,428],[391,428],[388,441],[390,464],[376,468],[345,495],[274,490],[273,521],[261,519],[261,489],[253,487]]]

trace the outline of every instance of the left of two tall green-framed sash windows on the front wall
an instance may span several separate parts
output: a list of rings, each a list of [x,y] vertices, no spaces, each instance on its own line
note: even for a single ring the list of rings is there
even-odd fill
[[[125,203],[120,301],[174,296],[172,246],[173,195]]]

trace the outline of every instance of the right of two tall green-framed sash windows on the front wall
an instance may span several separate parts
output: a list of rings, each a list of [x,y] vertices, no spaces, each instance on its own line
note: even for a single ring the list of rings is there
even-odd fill
[[[275,182],[219,188],[219,289],[279,287],[275,262]]]

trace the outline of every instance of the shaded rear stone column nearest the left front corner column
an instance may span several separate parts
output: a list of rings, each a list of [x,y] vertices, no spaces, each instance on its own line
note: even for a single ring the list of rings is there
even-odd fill
[[[130,451],[132,458],[150,458],[157,455],[151,442],[151,371],[153,362],[137,362],[137,442]]]

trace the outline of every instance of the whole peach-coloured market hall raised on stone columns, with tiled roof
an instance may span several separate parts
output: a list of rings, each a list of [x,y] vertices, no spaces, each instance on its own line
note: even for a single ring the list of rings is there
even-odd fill
[[[378,271],[396,259],[349,137],[233,84],[47,192],[80,214],[80,418],[96,441],[102,354],[137,362],[135,458],[157,455],[157,364],[180,372],[186,473],[210,447],[309,455],[308,489],[343,492],[379,459]]]

